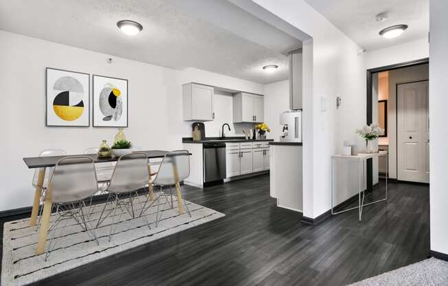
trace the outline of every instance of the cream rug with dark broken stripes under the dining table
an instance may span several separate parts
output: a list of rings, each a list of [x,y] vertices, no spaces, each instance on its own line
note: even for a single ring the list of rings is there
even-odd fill
[[[98,228],[99,245],[85,232],[74,219],[67,219],[59,223],[55,232],[55,246],[47,261],[45,254],[36,255],[37,229],[30,227],[30,219],[10,221],[4,224],[3,230],[3,259],[1,263],[1,286],[19,286],[39,281],[60,272],[71,270],[74,267],[102,259],[104,257],[135,248],[138,245],[161,239],[164,236],[193,228],[202,223],[224,217],[225,214],[205,208],[196,203],[186,201],[191,212],[179,214],[177,208],[169,208],[161,200],[148,210],[147,219],[150,229],[144,219],[133,219],[126,211],[117,211],[115,221],[120,217],[120,223],[111,236],[109,230],[111,217],[108,217]],[[91,220],[98,221],[104,204],[97,205],[91,210]],[[134,210],[142,208],[140,203],[134,203]],[[165,208],[163,208],[165,206]],[[177,206],[175,200],[174,206]],[[157,207],[163,208],[161,220],[155,226]],[[111,208],[107,205],[107,210]],[[52,220],[54,217],[52,216]]]

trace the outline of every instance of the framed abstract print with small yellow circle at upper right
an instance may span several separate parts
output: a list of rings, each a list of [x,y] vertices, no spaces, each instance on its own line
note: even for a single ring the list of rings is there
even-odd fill
[[[93,126],[128,126],[128,80],[93,75]]]

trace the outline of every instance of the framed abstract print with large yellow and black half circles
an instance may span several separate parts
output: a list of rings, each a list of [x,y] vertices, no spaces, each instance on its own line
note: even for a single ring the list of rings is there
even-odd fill
[[[90,126],[90,75],[46,69],[46,126]]]

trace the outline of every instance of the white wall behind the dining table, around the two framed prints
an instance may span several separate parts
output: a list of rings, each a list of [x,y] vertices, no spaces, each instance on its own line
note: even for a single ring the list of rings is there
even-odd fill
[[[129,127],[124,133],[128,140],[148,149],[182,148],[181,137],[191,136],[191,122],[182,120],[183,83],[195,81],[257,94],[263,91],[258,83],[199,69],[177,71],[116,57],[109,64],[105,54],[1,30],[0,43],[0,210],[32,204],[33,171],[26,168],[22,157],[35,156],[45,148],[63,148],[69,154],[79,154],[87,147],[99,146],[102,139],[111,142],[117,133],[114,128],[46,127],[45,67],[127,78]],[[216,96],[216,100],[230,102],[225,94]],[[215,109],[215,113],[219,118],[208,123],[207,135],[218,135],[216,125],[231,123],[228,110]]]

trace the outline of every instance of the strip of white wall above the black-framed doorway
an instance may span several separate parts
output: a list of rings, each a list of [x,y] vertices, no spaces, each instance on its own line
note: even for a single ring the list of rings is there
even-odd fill
[[[387,41],[387,40],[386,40]],[[366,69],[405,63],[429,56],[428,39],[420,39],[401,45],[393,45],[366,53]]]

